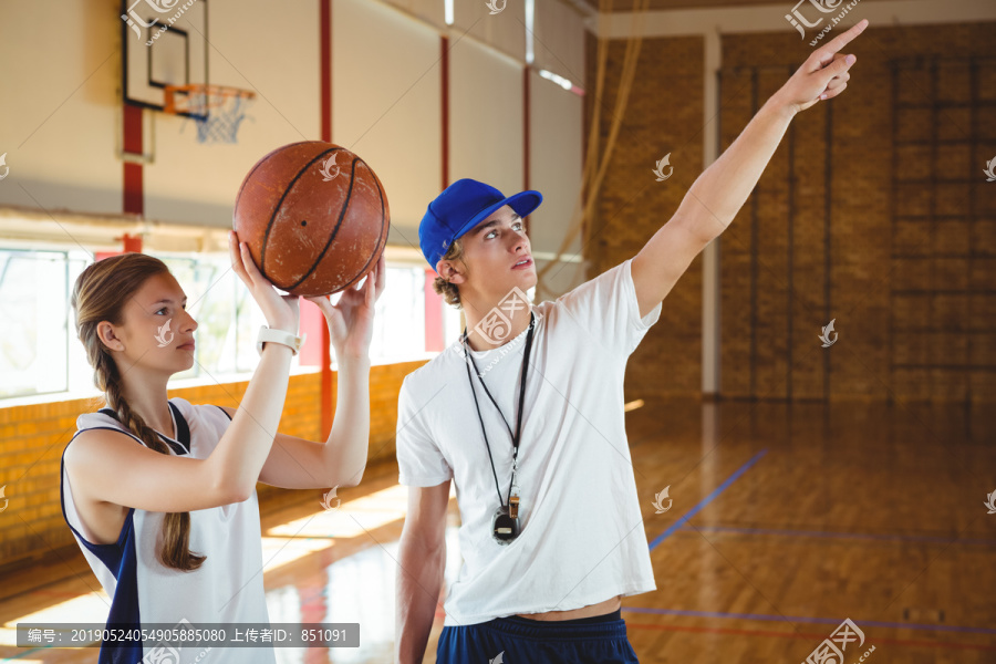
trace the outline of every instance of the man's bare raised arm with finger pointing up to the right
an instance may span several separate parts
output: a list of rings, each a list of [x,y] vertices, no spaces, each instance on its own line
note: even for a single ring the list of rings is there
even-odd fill
[[[695,257],[733,222],[792,117],[848,86],[848,70],[857,59],[839,51],[867,27],[868,20],[862,20],[813,51],[726,152],[698,176],[671,220],[633,258],[641,317],[667,297]]]

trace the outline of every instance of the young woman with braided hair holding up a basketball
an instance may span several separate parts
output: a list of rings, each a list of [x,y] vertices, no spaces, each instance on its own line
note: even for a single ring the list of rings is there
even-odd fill
[[[268,331],[238,409],[167,398],[169,377],[194,364],[197,322],[165,263],[125,253],[76,280],[76,333],[106,406],[81,415],[62,457],[63,516],[104,590],[108,626],[267,623],[256,483],[315,489],[354,486],[366,465],[374,302],[384,259],[362,287],[307,298],[324,313],[339,362],[329,440],[278,434],[298,299],[281,297],[245,243],[229,236],[232,269],[262,310]],[[141,635],[141,633],[139,633]],[[162,645],[128,640],[100,662],[138,662]],[[183,649],[170,661],[195,661]],[[272,649],[211,649],[209,661],[274,662]]]

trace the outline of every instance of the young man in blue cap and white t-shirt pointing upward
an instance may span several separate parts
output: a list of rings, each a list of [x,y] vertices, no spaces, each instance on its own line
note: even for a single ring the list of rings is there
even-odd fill
[[[422,250],[467,330],[405,378],[398,401],[400,481],[411,487],[398,662],[425,652],[450,483],[463,567],[439,664],[636,662],[620,599],[656,585],[626,444],[626,361],[744,205],[795,114],[844,90],[853,56],[838,51],[867,24],[810,55],[634,258],[554,302],[525,299],[537,278],[522,218],[539,193],[506,198],[461,179],[429,204]]]

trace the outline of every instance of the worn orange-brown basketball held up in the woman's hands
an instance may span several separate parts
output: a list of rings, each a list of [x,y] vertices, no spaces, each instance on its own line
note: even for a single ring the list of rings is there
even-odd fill
[[[232,228],[273,286],[314,297],[344,290],[376,266],[390,220],[384,187],[366,162],[339,145],[304,141],[249,170]]]

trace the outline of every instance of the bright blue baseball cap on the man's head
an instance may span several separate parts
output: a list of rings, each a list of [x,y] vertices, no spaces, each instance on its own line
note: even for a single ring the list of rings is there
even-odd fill
[[[469,177],[458,179],[436,196],[418,225],[422,253],[435,270],[455,239],[463,237],[498,208],[511,206],[517,215],[525,218],[542,201],[542,194],[532,189],[506,197],[485,183]]]

